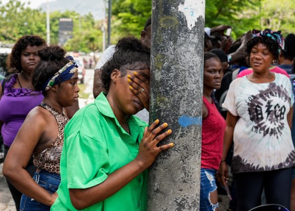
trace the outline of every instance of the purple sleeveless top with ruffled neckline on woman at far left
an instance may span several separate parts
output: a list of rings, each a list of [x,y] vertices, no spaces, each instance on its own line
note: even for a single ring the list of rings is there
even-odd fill
[[[1,135],[6,146],[12,144],[30,110],[39,105],[44,96],[42,92],[26,88],[13,88],[17,74],[4,85],[0,99],[0,120],[3,121]]]

